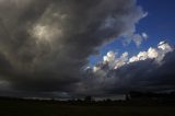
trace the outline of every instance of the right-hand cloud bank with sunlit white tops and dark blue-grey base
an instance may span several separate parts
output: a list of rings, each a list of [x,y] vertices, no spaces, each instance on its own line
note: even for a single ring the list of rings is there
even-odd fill
[[[103,61],[85,70],[84,93],[115,95],[129,91],[175,91],[175,50],[168,43],[161,42],[156,48],[150,47],[130,58],[128,53],[120,57],[108,51]]]

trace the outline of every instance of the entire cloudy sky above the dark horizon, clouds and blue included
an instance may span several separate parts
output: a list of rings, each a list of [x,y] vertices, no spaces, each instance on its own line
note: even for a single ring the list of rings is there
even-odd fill
[[[175,91],[174,0],[0,0],[0,94]]]

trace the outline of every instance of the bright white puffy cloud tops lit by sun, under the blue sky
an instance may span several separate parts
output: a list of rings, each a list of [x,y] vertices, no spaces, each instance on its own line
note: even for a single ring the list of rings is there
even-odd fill
[[[147,59],[154,59],[155,62],[161,63],[164,56],[167,53],[173,51],[173,49],[174,48],[168,43],[160,42],[158,48],[150,47],[147,51],[140,51],[138,55],[130,58],[128,57],[129,54],[127,51],[121,54],[120,57],[116,57],[116,53],[110,50],[104,56],[102,66],[107,63],[109,69],[118,69],[125,65]],[[101,70],[102,66],[93,67],[93,71],[96,72]]]

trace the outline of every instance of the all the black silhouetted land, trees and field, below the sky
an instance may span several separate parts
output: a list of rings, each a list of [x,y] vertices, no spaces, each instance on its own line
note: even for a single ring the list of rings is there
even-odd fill
[[[175,116],[174,98],[166,101],[173,95],[130,92],[127,101],[98,102],[92,96],[69,101],[0,97],[0,116]]]

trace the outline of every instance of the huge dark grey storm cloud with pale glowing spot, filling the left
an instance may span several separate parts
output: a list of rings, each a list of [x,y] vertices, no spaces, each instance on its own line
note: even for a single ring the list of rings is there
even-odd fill
[[[89,56],[143,16],[136,0],[1,0],[0,79],[25,94],[73,94]]]

